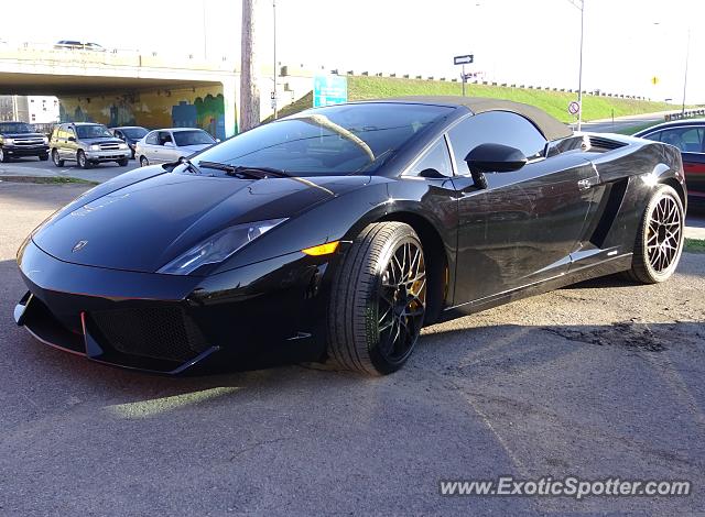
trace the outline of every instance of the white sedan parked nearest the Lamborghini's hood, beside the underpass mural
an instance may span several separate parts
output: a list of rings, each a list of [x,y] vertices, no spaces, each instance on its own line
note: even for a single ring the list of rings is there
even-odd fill
[[[172,128],[152,131],[137,143],[134,156],[140,165],[176,162],[215,144],[217,141],[204,130]]]

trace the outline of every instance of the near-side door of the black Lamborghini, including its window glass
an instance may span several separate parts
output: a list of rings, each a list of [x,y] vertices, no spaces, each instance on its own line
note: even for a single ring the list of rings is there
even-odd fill
[[[458,195],[458,256],[455,305],[567,272],[598,182],[578,154],[545,158],[546,140],[525,118],[490,111],[464,119],[448,131]],[[465,157],[477,145],[500,143],[529,158],[511,173],[486,174],[475,185]]]

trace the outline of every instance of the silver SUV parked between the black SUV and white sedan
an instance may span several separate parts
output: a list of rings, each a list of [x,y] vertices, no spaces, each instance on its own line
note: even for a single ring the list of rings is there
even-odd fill
[[[91,122],[56,125],[48,145],[57,167],[63,167],[66,161],[75,161],[80,168],[102,162],[126,166],[132,155],[128,144],[116,139],[108,128]]]

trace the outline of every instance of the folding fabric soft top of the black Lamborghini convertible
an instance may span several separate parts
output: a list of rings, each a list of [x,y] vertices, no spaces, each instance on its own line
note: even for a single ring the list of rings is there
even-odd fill
[[[486,111],[511,111],[525,117],[543,133],[547,141],[565,139],[573,135],[573,130],[563,122],[554,119],[545,111],[530,105],[513,102],[503,99],[489,99],[486,97],[456,97],[456,96],[409,96],[393,97],[389,99],[375,99],[373,102],[419,102],[423,105],[465,106],[473,113]],[[368,101],[369,102],[369,101]]]

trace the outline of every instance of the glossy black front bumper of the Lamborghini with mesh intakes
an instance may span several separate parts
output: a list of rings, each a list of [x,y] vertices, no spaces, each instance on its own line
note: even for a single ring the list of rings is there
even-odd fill
[[[158,373],[316,361],[327,263],[302,255],[191,277],[70,264],[29,241],[14,319],[52,346]]]

